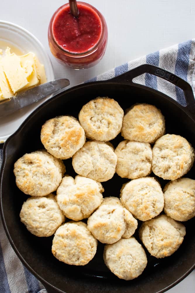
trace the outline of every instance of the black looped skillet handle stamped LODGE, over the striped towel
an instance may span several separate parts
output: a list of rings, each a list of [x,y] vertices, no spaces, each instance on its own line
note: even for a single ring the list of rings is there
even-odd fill
[[[143,64],[124,74],[121,74],[120,76],[114,77],[112,80],[114,80],[115,82],[125,82],[125,84],[129,84],[133,83],[132,79],[144,73],[150,73],[158,77],[161,77],[162,79],[165,79],[174,84],[175,86],[181,88],[184,91],[187,109],[190,113],[195,114],[194,94],[190,84],[184,79],[181,79],[179,76],[172,74],[171,72],[166,71],[162,68],[159,68],[151,64]]]

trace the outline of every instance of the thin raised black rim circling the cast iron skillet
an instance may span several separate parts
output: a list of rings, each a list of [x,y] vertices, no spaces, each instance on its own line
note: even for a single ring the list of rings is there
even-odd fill
[[[121,76],[121,75],[120,75]],[[191,113],[191,109],[189,108],[189,105],[187,104],[186,106],[183,106],[181,104],[179,104],[176,100],[172,99],[171,97],[165,95],[164,93],[157,91],[153,88],[150,88],[148,86],[144,86],[141,84],[137,84],[134,83],[133,81],[117,81],[117,77],[114,77],[113,79],[109,79],[109,80],[105,80],[105,81],[94,81],[94,82],[87,82],[84,84],[80,84],[77,86],[74,86],[72,88],[69,88],[67,90],[61,91],[60,93],[56,94],[55,96],[53,96],[52,98],[50,98],[49,100],[46,100],[43,104],[41,104],[38,108],[36,108],[24,121],[23,123],[20,125],[20,127],[18,128],[18,130],[16,130],[4,143],[3,146],[3,160],[2,160],[2,164],[1,164],[1,170],[0,170],[0,214],[1,214],[1,219],[2,219],[2,223],[3,223],[3,227],[4,230],[6,232],[6,236],[8,237],[8,240],[13,248],[13,250],[15,251],[16,255],[18,256],[18,258],[20,259],[20,261],[25,265],[25,267],[38,279],[42,282],[42,284],[48,288],[48,293],[49,293],[49,288],[52,288],[53,290],[55,290],[56,292],[60,292],[60,293],[64,293],[65,291],[62,291],[61,289],[58,289],[57,287],[53,286],[52,284],[50,284],[49,282],[47,282],[46,280],[44,280],[37,272],[35,272],[31,266],[25,261],[25,259],[22,257],[22,255],[20,255],[20,252],[18,251],[18,249],[16,248],[14,241],[11,238],[11,235],[9,234],[9,230],[7,228],[6,225],[6,221],[4,218],[4,210],[3,210],[3,205],[2,205],[2,177],[4,174],[4,168],[6,165],[6,149],[10,143],[10,141],[13,139],[13,137],[17,136],[20,134],[20,132],[22,132],[23,128],[26,127],[26,125],[28,124],[29,120],[33,119],[34,115],[37,114],[37,112],[39,111],[43,111],[43,108],[47,107],[47,105],[51,102],[53,102],[53,100],[57,100],[60,96],[62,96],[63,94],[66,93],[71,93],[72,91],[74,91],[75,89],[79,89],[79,88],[84,88],[84,87],[88,87],[88,86],[94,86],[94,85],[101,85],[101,84],[107,84],[107,85],[112,85],[112,84],[119,84],[119,85],[124,85],[124,86],[134,86],[136,88],[142,88],[146,91],[155,93],[157,95],[160,95],[163,99],[168,100],[169,102],[171,102],[172,104],[174,104],[176,107],[180,108],[180,110],[182,110],[194,123],[195,123],[195,118],[192,117],[192,113]],[[175,285],[177,285],[179,282],[181,282],[185,277],[187,277],[195,268],[195,263],[194,265],[192,265],[191,268],[189,268],[189,270],[187,272],[185,272],[179,279],[177,279],[175,282],[173,282],[172,284],[170,284],[169,286],[165,287],[164,289],[161,289],[160,291],[156,291],[155,293],[163,293],[169,289],[171,289],[172,287],[174,287]],[[98,278],[97,278],[98,279]],[[88,282],[90,280],[90,283],[92,284],[93,282],[91,281],[91,279],[88,279]]]

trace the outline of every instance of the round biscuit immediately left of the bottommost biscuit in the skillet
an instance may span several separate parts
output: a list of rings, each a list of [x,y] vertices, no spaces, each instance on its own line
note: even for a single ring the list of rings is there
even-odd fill
[[[58,260],[68,265],[86,265],[96,250],[97,240],[83,222],[68,222],[60,226],[51,249]]]

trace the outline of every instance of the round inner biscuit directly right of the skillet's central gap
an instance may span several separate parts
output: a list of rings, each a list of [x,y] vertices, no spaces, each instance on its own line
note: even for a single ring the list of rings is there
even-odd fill
[[[152,177],[133,179],[123,184],[120,200],[141,221],[156,217],[164,207],[163,191],[158,181]]]

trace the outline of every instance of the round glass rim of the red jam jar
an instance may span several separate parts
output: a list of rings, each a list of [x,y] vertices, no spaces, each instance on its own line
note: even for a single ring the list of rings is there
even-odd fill
[[[91,4],[89,3],[86,3],[86,2],[82,2],[82,1],[77,1],[77,4],[83,4],[85,6],[88,6],[90,8],[92,8],[94,10],[94,12],[97,14],[97,16],[99,17],[99,20],[101,22],[101,33],[100,33],[100,37],[99,37],[99,40],[96,42],[96,44],[93,46],[93,47],[90,47],[87,51],[84,51],[84,52],[71,52],[69,50],[66,50],[64,48],[62,48],[60,45],[58,45],[58,43],[56,42],[55,38],[54,38],[54,33],[53,33],[53,24],[54,24],[54,20],[55,20],[55,17],[57,16],[57,14],[59,13],[59,11],[61,11],[64,7],[66,6],[69,6],[69,3],[66,3],[62,6],[60,6],[53,14],[52,18],[51,18],[51,23],[50,23],[50,27],[51,27],[51,30],[50,30],[50,36],[54,42],[54,45],[58,48],[58,50],[60,50],[63,54],[66,54],[66,55],[69,55],[69,56],[74,56],[74,57],[82,57],[82,56],[88,56],[90,54],[92,54],[93,52],[95,52],[97,49],[98,49],[98,46],[99,46],[99,43],[101,42],[102,40],[102,36],[103,36],[103,22],[102,22],[102,19],[103,19],[103,16],[102,14],[94,7],[92,6]]]

